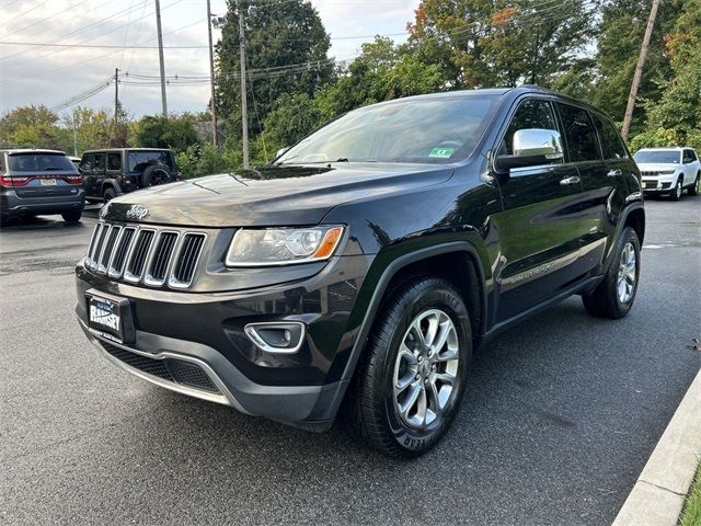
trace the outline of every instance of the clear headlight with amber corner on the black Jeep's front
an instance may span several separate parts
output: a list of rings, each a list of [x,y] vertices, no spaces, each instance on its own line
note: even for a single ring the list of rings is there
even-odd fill
[[[343,227],[239,230],[227,254],[227,266],[269,266],[323,261],[336,250]]]

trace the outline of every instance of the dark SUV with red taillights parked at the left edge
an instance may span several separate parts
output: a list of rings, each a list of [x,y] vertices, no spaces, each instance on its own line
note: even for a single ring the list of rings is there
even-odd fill
[[[76,222],[84,203],[82,178],[62,151],[0,150],[0,221],[60,214]]]

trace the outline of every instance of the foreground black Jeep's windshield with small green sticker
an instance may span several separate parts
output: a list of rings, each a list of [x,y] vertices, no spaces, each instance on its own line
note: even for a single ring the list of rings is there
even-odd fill
[[[472,152],[498,99],[441,96],[355,110],[303,139],[277,163],[455,162]]]

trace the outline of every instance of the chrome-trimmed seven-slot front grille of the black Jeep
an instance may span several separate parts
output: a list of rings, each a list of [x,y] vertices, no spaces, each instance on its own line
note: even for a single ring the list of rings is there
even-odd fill
[[[204,232],[100,222],[90,240],[85,266],[133,284],[188,288],[206,239]]]

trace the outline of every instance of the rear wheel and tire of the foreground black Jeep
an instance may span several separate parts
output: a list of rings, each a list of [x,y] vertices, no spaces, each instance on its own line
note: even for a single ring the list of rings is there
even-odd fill
[[[623,318],[633,306],[639,282],[640,240],[635,230],[625,227],[613,247],[611,264],[604,281],[591,294],[582,296],[584,307],[599,318]]]

